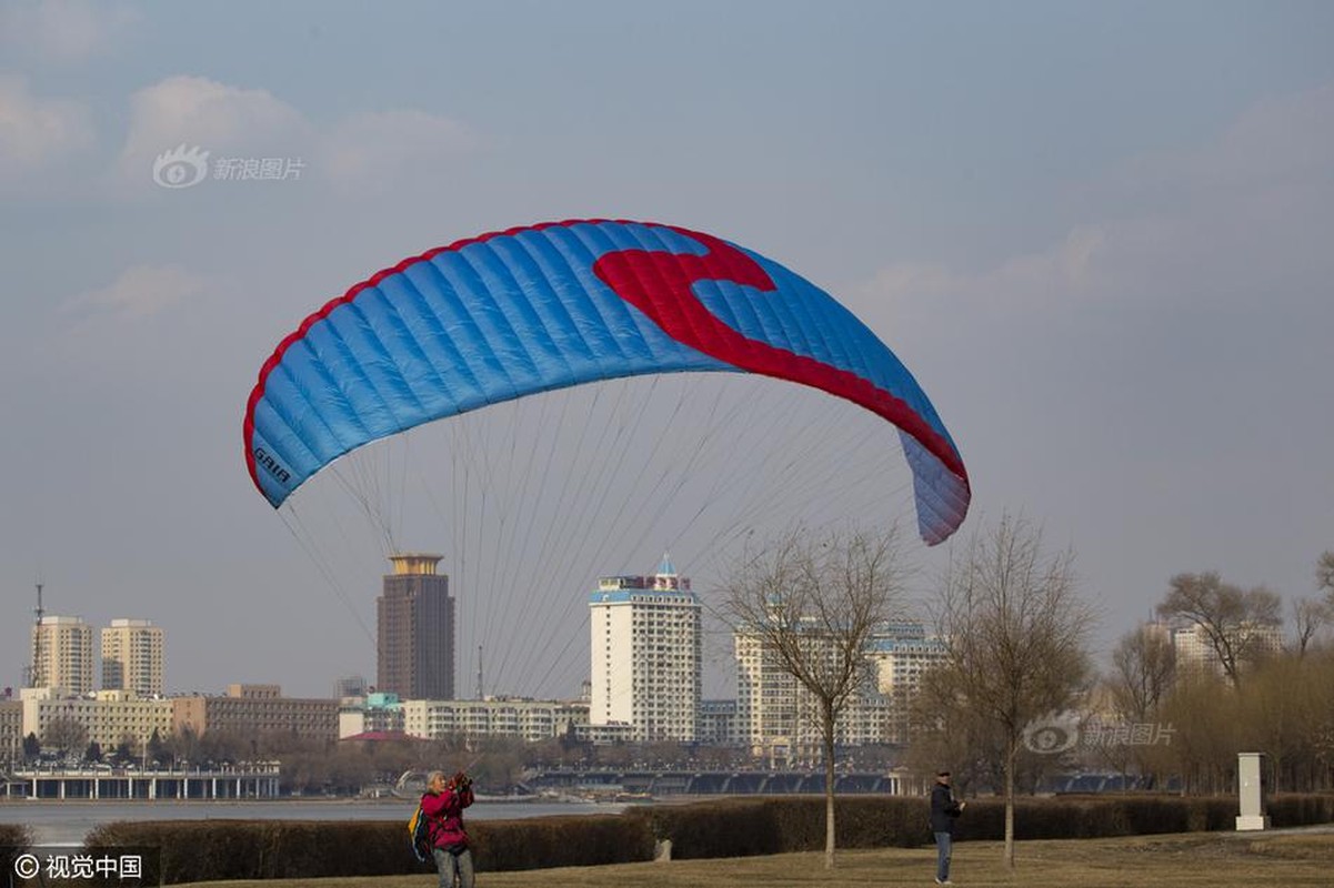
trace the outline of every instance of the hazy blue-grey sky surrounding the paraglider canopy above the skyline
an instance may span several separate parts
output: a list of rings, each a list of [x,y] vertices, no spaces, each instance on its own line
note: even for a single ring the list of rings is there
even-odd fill
[[[163,187],[179,147],[213,173],[271,163]],[[960,539],[1018,513],[1071,549],[1101,651],[1175,573],[1315,595],[1334,548],[1334,5],[5,1],[0,687],[21,683],[39,581],[48,613],[164,627],[171,692],[374,683],[383,545],[253,489],[259,367],[406,256],[575,217],[712,232],[847,305],[963,455]],[[512,421],[523,439],[550,416]],[[482,543],[403,524],[468,595],[458,563]],[[671,543],[704,591],[683,533],[568,559],[648,572]],[[551,609],[478,605],[460,651],[550,647],[500,689],[576,693],[583,583],[515,580]]]

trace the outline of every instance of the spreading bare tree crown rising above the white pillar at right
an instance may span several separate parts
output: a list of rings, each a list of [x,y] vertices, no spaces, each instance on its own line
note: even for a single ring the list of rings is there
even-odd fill
[[[1243,591],[1223,583],[1213,571],[1178,573],[1170,583],[1158,613],[1199,627],[1223,675],[1238,687],[1242,667],[1263,653],[1266,632],[1282,624],[1282,600],[1263,587]]]

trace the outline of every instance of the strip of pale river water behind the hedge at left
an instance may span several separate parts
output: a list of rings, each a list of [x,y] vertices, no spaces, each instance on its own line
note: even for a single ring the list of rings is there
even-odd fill
[[[77,845],[93,827],[117,820],[402,820],[416,803],[354,800],[271,801],[0,801],[0,823],[32,827],[39,845]],[[556,815],[619,813],[627,805],[594,801],[479,801],[470,820],[518,820]]]

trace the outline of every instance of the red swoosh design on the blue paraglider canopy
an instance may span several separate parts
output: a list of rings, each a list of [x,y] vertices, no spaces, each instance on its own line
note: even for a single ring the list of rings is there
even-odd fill
[[[967,483],[963,461],[950,441],[902,399],[856,373],[747,339],[714,316],[695,296],[692,287],[698,281],[724,280],[772,292],[776,289],[772,279],[727,241],[686,228],[668,228],[699,241],[708,252],[695,256],[622,249],[594,263],[594,273],[676,341],[752,373],[802,383],[860,404],[915,437]]]

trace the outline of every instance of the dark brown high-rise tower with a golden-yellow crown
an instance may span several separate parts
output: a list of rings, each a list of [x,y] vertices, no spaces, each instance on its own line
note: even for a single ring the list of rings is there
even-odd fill
[[[376,691],[400,700],[454,699],[454,599],[442,555],[390,556],[378,615]]]

